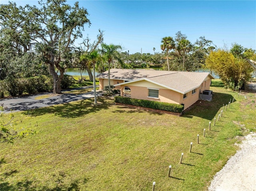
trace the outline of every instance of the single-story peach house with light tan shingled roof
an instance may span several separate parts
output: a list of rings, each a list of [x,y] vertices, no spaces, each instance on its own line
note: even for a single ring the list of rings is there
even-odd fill
[[[108,71],[98,78],[100,89],[108,86]],[[129,93],[131,98],[183,104],[184,110],[210,90],[211,79],[208,72],[110,69],[110,84],[120,89],[121,96]]]

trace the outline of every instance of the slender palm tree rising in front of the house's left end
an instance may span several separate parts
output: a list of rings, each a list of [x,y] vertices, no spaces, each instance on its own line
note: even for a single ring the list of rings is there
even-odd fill
[[[102,49],[104,51],[104,57],[108,61],[108,93],[110,93],[110,64],[112,61],[116,60],[118,63],[120,63],[121,66],[124,65],[124,62],[121,59],[122,55],[120,53],[122,47],[120,45],[107,45],[103,43]]]

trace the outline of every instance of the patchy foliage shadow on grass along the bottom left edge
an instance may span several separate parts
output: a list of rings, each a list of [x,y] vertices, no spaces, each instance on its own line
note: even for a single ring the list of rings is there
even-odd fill
[[[80,182],[78,180],[74,180],[69,184],[64,183],[66,175],[65,173],[59,173],[57,175],[53,175],[52,181],[55,182],[55,186],[50,188],[48,186],[37,187],[35,185],[36,182],[30,180],[19,181],[16,184],[10,184],[8,181],[2,181],[0,183],[1,191],[80,191]],[[82,182],[86,183],[88,179],[84,179]]]

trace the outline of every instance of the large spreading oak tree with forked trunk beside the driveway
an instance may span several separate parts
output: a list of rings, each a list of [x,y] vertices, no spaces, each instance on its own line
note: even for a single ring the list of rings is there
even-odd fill
[[[12,2],[0,5],[0,36],[1,39],[7,39],[3,44],[4,50],[8,51],[0,60],[13,58],[16,67],[18,63],[30,63],[28,55],[40,55],[39,61],[48,65],[53,77],[53,92],[61,93],[64,70],[71,65],[71,50],[75,49],[74,41],[82,37],[84,25],[90,25],[86,17],[88,12],[85,8],[80,8],[78,2],[70,6],[66,4],[66,0],[41,0],[39,4],[40,8],[30,5],[17,7]],[[19,59],[21,57],[26,57],[27,61]],[[32,59],[32,63],[35,60]],[[3,64],[6,66],[6,61]]]

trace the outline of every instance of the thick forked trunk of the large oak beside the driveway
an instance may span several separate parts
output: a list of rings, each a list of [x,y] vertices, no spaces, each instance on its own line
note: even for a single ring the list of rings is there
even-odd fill
[[[54,70],[54,65],[53,64],[49,64],[49,71],[52,75],[53,78],[53,93],[54,94],[61,94],[61,81],[64,75],[64,69],[59,69],[60,71],[60,75],[58,76],[58,74],[55,72]]]

